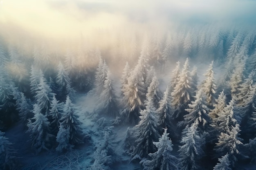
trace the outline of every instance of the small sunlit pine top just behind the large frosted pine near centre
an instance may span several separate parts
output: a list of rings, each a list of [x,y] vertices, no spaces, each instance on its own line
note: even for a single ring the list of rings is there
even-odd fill
[[[148,91],[147,91],[147,94],[146,94],[146,98],[149,99],[153,99],[153,105],[155,108],[158,108],[159,107],[159,101],[161,99],[161,92],[159,91],[159,82],[157,80],[157,77],[154,76],[152,78],[152,81],[148,87]]]

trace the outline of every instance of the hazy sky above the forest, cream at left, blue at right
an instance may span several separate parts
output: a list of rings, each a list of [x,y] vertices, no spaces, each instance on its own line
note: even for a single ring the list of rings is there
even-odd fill
[[[255,24],[255,7],[256,0],[1,0],[0,31],[14,39],[21,32],[58,39],[93,36],[97,29],[161,32],[178,24]]]

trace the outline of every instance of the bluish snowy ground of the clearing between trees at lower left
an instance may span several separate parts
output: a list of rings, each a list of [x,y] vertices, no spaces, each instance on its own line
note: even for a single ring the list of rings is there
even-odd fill
[[[71,152],[58,153],[55,150],[41,152],[34,155],[30,144],[27,141],[29,135],[26,133],[26,127],[17,123],[6,132],[9,140],[15,144],[18,149],[22,170],[86,170],[94,161],[95,145],[103,140],[104,127],[99,127],[97,120],[91,117],[97,100],[87,94],[77,94],[73,102],[78,111],[79,120],[82,122],[82,128],[85,134],[89,133],[91,139],[85,141],[85,144],[76,146]],[[108,120],[109,118],[106,118]],[[105,126],[105,125],[104,125]],[[108,124],[106,126],[109,126]],[[120,163],[115,163],[111,170],[134,170],[140,167],[137,163],[130,163],[130,157],[124,152],[124,139],[128,126],[118,126],[113,128],[115,151],[120,155]]]

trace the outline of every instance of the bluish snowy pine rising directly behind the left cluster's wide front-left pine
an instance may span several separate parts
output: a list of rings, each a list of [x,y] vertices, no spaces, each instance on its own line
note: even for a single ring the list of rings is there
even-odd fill
[[[45,77],[41,77],[40,83],[38,84],[38,91],[36,91],[34,97],[43,115],[49,113],[50,100],[54,95],[55,93],[52,93],[52,89],[47,84]]]

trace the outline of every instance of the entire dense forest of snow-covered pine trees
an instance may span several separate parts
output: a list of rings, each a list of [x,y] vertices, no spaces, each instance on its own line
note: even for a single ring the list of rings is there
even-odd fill
[[[138,60],[119,62],[125,65],[120,84],[104,49],[101,55],[98,48],[80,46],[77,53],[51,59],[43,43],[25,60],[19,48],[6,50],[0,42],[1,168],[18,164],[15,144],[4,133],[12,126],[25,127],[36,154],[61,154],[86,141],[82,116],[95,121],[99,132],[90,133],[102,138],[90,143],[95,144],[92,170],[111,169],[122,161],[115,151],[118,142],[144,170],[229,170],[239,161],[254,160],[256,33],[213,28],[211,34],[198,34],[193,29],[164,37],[146,34],[141,42],[133,37],[129,47],[126,41],[120,38],[112,53]],[[199,82],[197,65],[190,66],[207,54],[209,68]],[[186,58],[175,64],[172,55]],[[224,63],[218,79],[216,63]],[[168,82],[164,90],[162,82]],[[97,101],[91,113],[78,112],[77,95]],[[116,143],[113,126],[130,126]],[[214,165],[207,165],[211,161]]]

